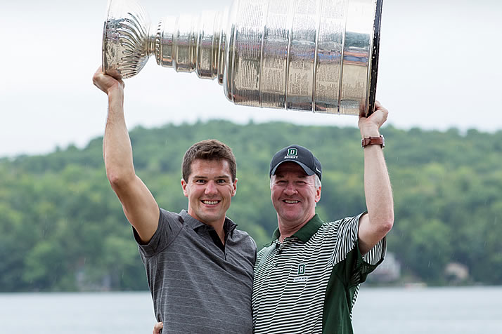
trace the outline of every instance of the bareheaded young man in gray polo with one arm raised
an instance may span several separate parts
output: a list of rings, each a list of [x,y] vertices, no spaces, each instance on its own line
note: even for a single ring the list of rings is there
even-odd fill
[[[256,244],[226,218],[237,189],[231,149],[217,140],[190,147],[181,179],[188,211],[165,211],[134,171],[124,83],[101,69],[93,81],[108,95],[106,175],[139,244],[157,321],[165,333],[252,333]]]

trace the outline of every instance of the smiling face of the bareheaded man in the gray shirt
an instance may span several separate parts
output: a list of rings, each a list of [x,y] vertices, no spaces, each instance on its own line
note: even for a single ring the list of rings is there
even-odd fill
[[[228,161],[195,159],[188,180],[181,180],[183,194],[188,197],[188,214],[207,225],[222,224],[236,185]]]

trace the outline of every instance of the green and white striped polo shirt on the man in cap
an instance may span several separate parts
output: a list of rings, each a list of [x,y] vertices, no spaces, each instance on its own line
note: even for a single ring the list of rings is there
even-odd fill
[[[256,334],[353,333],[352,307],[359,283],[380,265],[386,243],[382,239],[361,256],[357,246],[361,215],[326,223],[315,215],[283,243],[276,229],[255,264]]]

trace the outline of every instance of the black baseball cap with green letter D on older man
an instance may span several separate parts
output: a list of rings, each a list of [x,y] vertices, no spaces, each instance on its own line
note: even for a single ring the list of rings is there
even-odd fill
[[[286,161],[298,163],[302,166],[307,175],[316,174],[319,177],[319,180],[321,180],[321,162],[318,161],[309,149],[300,145],[290,145],[288,147],[284,147],[281,151],[274,154],[272,161],[270,161],[269,176],[275,175],[277,167]]]

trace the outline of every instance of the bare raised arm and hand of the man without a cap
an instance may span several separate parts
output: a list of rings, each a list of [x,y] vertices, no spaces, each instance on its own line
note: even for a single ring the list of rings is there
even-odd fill
[[[106,176],[117,194],[127,220],[143,242],[150,241],[157,230],[159,207],[150,190],[136,176],[131,140],[124,119],[124,82],[104,74],[99,68],[94,85],[108,95],[108,118],[103,139]]]

